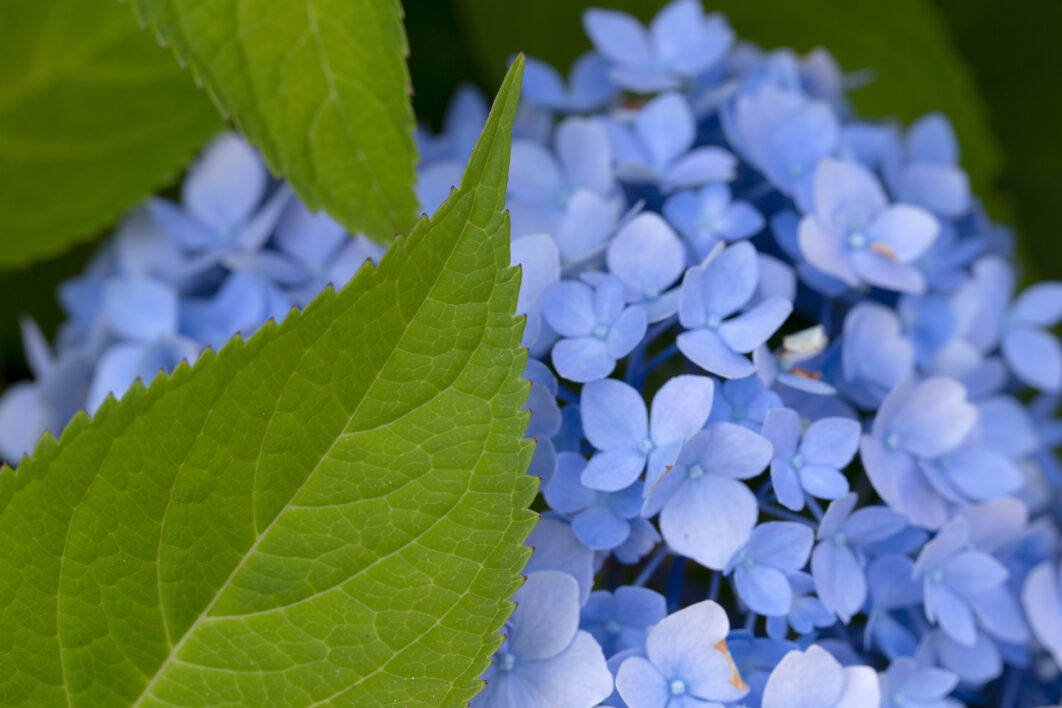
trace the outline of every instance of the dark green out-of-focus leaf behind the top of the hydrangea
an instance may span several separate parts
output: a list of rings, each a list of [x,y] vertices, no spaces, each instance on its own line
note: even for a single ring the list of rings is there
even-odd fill
[[[517,51],[567,68],[590,46],[581,19],[586,7],[622,10],[647,21],[665,4],[663,0],[457,0],[465,34],[487,69],[489,81],[496,81],[507,57]],[[993,186],[998,150],[984,107],[927,0],[705,0],[704,6],[726,15],[740,38],[765,48],[804,52],[824,47],[845,71],[872,69],[873,83],[852,93],[862,115],[911,121],[930,110],[947,114],[975,190],[983,195]]]

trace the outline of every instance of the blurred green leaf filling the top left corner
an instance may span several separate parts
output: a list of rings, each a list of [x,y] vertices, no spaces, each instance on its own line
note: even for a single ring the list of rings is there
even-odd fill
[[[91,238],[221,127],[115,0],[0,2],[0,269]]]

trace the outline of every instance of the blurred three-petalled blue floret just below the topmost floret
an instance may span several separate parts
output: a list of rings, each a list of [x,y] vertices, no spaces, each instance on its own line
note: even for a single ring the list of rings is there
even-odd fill
[[[664,93],[647,103],[630,126],[611,120],[605,127],[616,174],[628,182],[672,190],[734,178],[737,160],[729,151],[718,145],[693,148],[693,111],[679,93]]]

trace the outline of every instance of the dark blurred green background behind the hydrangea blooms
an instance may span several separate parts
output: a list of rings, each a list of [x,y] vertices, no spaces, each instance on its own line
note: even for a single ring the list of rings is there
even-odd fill
[[[417,118],[438,128],[453,88],[492,96],[506,58],[524,50],[566,69],[588,48],[587,5],[648,19],[660,0],[406,0]],[[1018,235],[1025,279],[1062,278],[1062,2],[1059,0],[705,0],[766,48],[824,46],[845,71],[873,67],[853,100],[868,116],[953,118],[963,165],[993,215]],[[957,54],[958,71],[952,70]],[[972,107],[972,109],[971,109]],[[92,244],[21,272],[0,272],[0,390],[29,376],[18,315],[50,334],[55,286]]]

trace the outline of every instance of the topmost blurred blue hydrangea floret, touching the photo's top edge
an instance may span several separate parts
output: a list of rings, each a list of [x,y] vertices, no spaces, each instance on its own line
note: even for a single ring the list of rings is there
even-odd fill
[[[726,20],[705,16],[698,0],[668,3],[648,32],[627,13],[596,7],[583,13],[583,27],[612,63],[613,81],[639,93],[679,88],[719,64],[734,42]]]

